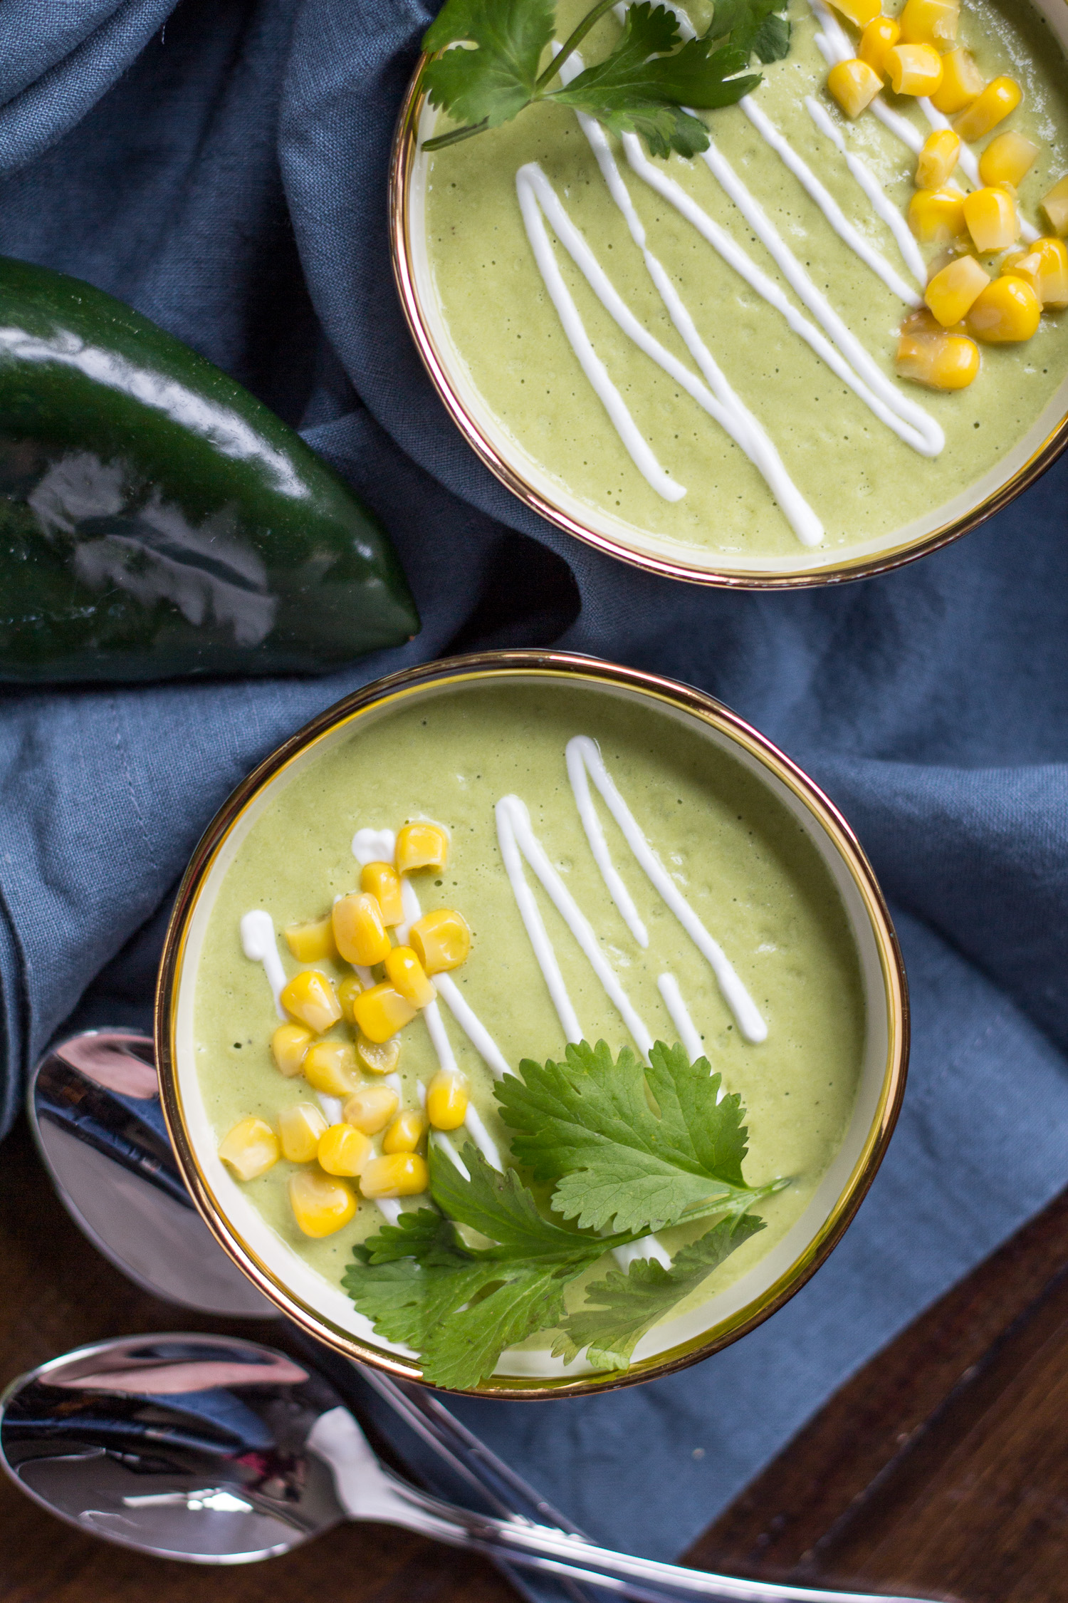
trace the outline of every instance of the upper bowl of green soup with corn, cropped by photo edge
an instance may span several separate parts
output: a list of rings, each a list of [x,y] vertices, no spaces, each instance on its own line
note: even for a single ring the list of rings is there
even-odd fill
[[[548,48],[584,11],[560,0]],[[714,34],[709,0],[673,16],[676,46]],[[698,583],[911,561],[1068,442],[1065,6],[778,24],[690,157],[551,99],[428,151],[458,130],[426,56],[394,146],[400,301],[468,442],[543,518]]]

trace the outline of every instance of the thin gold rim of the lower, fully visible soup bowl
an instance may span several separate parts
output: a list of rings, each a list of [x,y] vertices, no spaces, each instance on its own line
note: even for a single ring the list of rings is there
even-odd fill
[[[885,1154],[890,1135],[897,1124],[905,1095],[909,1052],[909,1002],[905,965],[897,939],[897,931],[876,880],[876,875],[865,856],[857,835],[847,824],[839,808],[825,795],[804,769],[753,725],[722,702],[708,696],[695,686],[682,684],[661,675],[645,673],[639,668],[628,668],[620,664],[605,662],[599,657],[580,656],[564,651],[487,651],[460,657],[444,657],[418,667],[404,668],[386,678],[354,691],[352,694],[327,707],[311,718],[303,728],[272,750],[242,782],[231,792],[218,810],[203,835],[200,837],[189,866],[183,875],[175,907],[167,927],[163,955],[160,960],[159,981],[155,989],[155,1055],[160,1077],[160,1101],[167,1127],[171,1137],[178,1167],[189,1188],[194,1204],[223,1250],[237,1263],[251,1282],[282,1313],[295,1321],[303,1330],[344,1353],[351,1359],[384,1369],[387,1374],[429,1385],[416,1361],[400,1353],[375,1347],[349,1330],[335,1326],[328,1318],[317,1313],[314,1306],[299,1298],[287,1287],[248,1247],[239,1230],[229,1221],[223,1205],[216,1201],[211,1186],[195,1154],[194,1145],[186,1130],[181,1088],[178,1082],[178,994],[183,978],[183,957],[192,915],[200,890],[211,870],[219,851],[239,824],[245,811],[261,795],[261,792],[287,769],[298,757],[312,745],[331,734],[346,723],[363,717],[391,701],[399,701],[413,691],[428,689],[432,684],[469,683],[472,680],[517,680],[517,678],[578,678],[586,683],[602,686],[621,686],[637,691],[642,697],[666,704],[674,710],[682,710],[697,717],[705,725],[727,737],[729,744],[741,747],[751,758],[770,773],[797,798],[815,822],[829,837],[831,845],[842,858],[871,923],[873,936],[879,954],[882,973],[884,999],[887,1010],[887,1058],[882,1072],[882,1085],[876,1111],[863,1140],[861,1149],[842,1186],[837,1201],[828,1212],[820,1230],[805,1244],[794,1262],[759,1294],[753,1302],[745,1303],[733,1314],[729,1314],[711,1332],[700,1332],[687,1342],[653,1355],[632,1364],[621,1374],[610,1372],[600,1375],[581,1375],[575,1379],[544,1379],[525,1375],[495,1375],[482,1385],[463,1391],[464,1396],[492,1398],[559,1398],[588,1396],[610,1391],[618,1387],[639,1385],[645,1380],[674,1374],[690,1364],[711,1356],[721,1348],[738,1340],[738,1337],[756,1329],[772,1313],[781,1308],[801,1287],[815,1274],[829,1252],[841,1241],[845,1228],[860,1207],[879,1164]],[[436,1388],[442,1390],[442,1388]]]

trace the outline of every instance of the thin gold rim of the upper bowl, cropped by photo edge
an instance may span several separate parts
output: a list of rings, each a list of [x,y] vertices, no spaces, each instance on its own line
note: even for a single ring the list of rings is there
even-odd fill
[[[504,455],[482,431],[453,388],[447,362],[439,351],[437,341],[434,340],[420,303],[412,252],[410,197],[412,170],[418,154],[420,117],[423,115],[426,103],[423,74],[431,59],[432,58],[423,51],[415,66],[415,72],[408,82],[397,117],[389,159],[389,255],[392,261],[394,282],[415,348],[420,353],[431,383],[434,385],[434,390],[437,391],[439,399],[445,406],[445,410],[452,417],[453,423],[490,473],[493,473],[493,476],[500,479],[500,483],[511,491],[512,495],[528,507],[530,511],[544,518],[546,523],[556,524],[557,529],[564,529],[565,534],[575,535],[576,540],[583,540],[586,545],[591,545],[594,550],[602,551],[607,556],[615,556],[618,561],[628,563],[631,567],[640,567],[661,579],[679,579],[685,583],[709,585],[719,590],[804,590],[815,585],[844,583],[852,579],[873,579],[876,574],[885,574],[895,567],[903,567],[906,563],[919,561],[921,556],[927,556],[930,551],[937,551],[943,545],[959,540],[961,535],[970,534],[972,529],[978,529],[978,526],[986,523],[988,518],[993,518],[994,513],[1009,507],[1009,503],[1034,484],[1034,481],[1054,465],[1065,447],[1068,447],[1066,410],[1060,422],[1049,431],[1046,439],[1036,446],[1028,460],[1023,462],[1004,484],[998,486],[990,492],[990,495],[983,497],[983,500],[980,500],[972,511],[951,518],[948,523],[932,529],[929,534],[919,535],[914,540],[905,540],[900,545],[889,547],[884,551],[873,551],[865,556],[849,558],[844,555],[841,561],[818,569],[799,566],[793,571],[785,569],[767,572],[765,569],[746,571],[745,567],[698,567],[669,556],[656,556],[652,551],[634,550],[623,540],[615,539],[610,534],[602,534],[600,531],[581,523],[578,518],[573,518],[560,507],[556,507],[546,495],[541,494],[541,491],[530,484],[530,481],[504,458]]]

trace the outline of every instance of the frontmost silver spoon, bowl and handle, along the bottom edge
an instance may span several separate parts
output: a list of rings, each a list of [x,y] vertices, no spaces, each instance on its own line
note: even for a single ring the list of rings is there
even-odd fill
[[[347,1518],[656,1603],[666,1593],[876,1603],[868,1593],[738,1581],[613,1553],[544,1524],[447,1504],[379,1464],[311,1364],[234,1337],[118,1337],[32,1369],[0,1398],[0,1464],[69,1524],[194,1563],[271,1558]]]

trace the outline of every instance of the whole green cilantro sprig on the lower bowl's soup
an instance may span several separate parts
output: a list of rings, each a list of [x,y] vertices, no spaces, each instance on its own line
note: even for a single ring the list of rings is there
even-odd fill
[[[500,1173],[471,1143],[464,1173],[432,1145],[434,1207],[357,1246],[343,1278],[379,1335],[421,1355],[432,1385],[474,1387],[506,1347],[541,1330],[557,1332],[552,1350],[567,1363],[588,1348],[596,1369],[624,1369],[640,1337],[764,1228],[751,1209],[786,1183],[746,1186],[740,1098],[717,1101],[719,1076],[682,1047],[658,1042],[645,1068],[626,1048],[613,1061],[604,1042],[580,1042],[565,1063],[525,1060],[520,1074],[498,1084],[496,1100],[514,1161],[551,1186],[548,1207],[517,1169]],[[639,1258],[568,1305],[568,1289],[613,1247],[713,1215],[671,1268]]]

